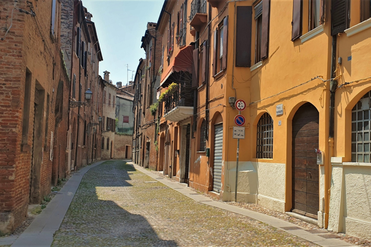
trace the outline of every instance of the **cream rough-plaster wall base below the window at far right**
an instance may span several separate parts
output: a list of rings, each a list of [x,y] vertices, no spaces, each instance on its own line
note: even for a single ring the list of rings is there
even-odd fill
[[[328,230],[371,236],[370,163],[332,163]]]

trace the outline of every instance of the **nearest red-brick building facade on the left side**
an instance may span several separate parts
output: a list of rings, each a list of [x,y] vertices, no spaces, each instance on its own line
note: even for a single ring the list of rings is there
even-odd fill
[[[65,176],[69,79],[59,1],[0,6],[0,231],[9,233]]]

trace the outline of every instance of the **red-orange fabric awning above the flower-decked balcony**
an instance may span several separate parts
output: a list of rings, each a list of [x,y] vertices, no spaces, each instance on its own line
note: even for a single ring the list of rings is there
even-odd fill
[[[193,49],[194,46],[190,45],[184,47],[178,52],[178,54],[174,57],[173,61],[171,61],[164,73],[162,73],[160,87],[166,87],[171,84],[171,82],[174,81],[172,80],[172,77],[176,73],[188,72],[189,74],[192,74]]]

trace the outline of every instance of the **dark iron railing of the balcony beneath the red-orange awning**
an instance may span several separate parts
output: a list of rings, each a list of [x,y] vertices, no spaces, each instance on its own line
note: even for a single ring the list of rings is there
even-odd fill
[[[165,98],[164,114],[167,114],[177,106],[193,107],[193,91],[191,85],[180,84],[177,91]]]

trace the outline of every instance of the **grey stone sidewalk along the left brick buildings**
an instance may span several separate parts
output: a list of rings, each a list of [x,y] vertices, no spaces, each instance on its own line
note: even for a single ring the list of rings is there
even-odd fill
[[[63,186],[58,194],[47,204],[46,208],[43,209],[18,238],[0,238],[0,245],[12,244],[12,247],[50,247],[53,242],[53,235],[59,229],[83,175],[92,167],[98,166],[103,162],[105,160],[83,167],[74,173],[65,186]]]

